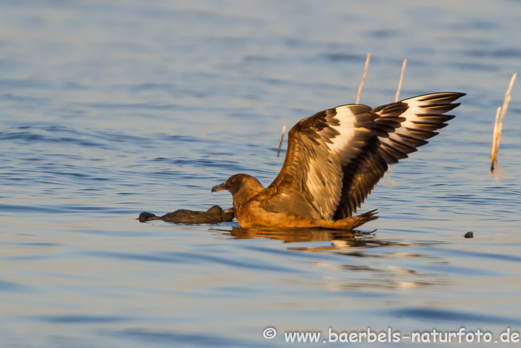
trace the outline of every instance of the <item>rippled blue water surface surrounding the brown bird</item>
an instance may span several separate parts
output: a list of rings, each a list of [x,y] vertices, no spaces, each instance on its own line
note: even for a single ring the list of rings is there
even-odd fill
[[[489,173],[519,18],[506,0],[1,1],[0,345],[519,332],[521,81]],[[354,102],[369,52],[364,104],[394,101],[404,58],[402,98],[468,93],[366,200],[374,234],[135,220],[231,207],[210,188],[234,173],[269,184],[282,126]]]

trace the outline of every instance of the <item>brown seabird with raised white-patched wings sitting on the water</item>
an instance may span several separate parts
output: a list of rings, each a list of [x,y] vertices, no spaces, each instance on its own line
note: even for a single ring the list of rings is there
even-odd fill
[[[376,210],[352,216],[388,169],[425,145],[454,118],[445,115],[465,93],[420,95],[372,109],[349,104],[302,119],[288,133],[286,159],[264,188],[235,174],[212,192],[229,190],[241,227],[324,227],[350,230]]]

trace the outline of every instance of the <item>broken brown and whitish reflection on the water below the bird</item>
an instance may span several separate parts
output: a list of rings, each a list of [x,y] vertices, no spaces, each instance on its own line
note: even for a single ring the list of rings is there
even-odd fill
[[[244,228],[231,227],[229,229],[210,229],[218,231],[224,235],[237,239],[269,238],[292,243],[288,250],[300,251],[303,253],[334,253],[354,258],[365,258],[367,261],[359,259],[335,259],[309,260],[308,262],[317,266],[333,270],[349,271],[349,277],[339,273],[330,275],[306,278],[304,280],[288,280],[292,283],[306,283],[323,286],[329,290],[360,290],[360,289],[407,289],[418,286],[439,286],[448,283],[446,274],[424,272],[413,268],[394,266],[390,259],[406,260],[415,258],[417,264],[424,262],[441,262],[437,257],[426,254],[407,253],[404,251],[396,252],[396,249],[381,252],[377,247],[411,245],[429,246],[436,242],[392,242],[382,241],[376,238],[375,231],[344,231],[328,229],[266,229],[266,228]],[[304,242],[325,242],[321,245],[306,245]],[[302,243],[295,245],[293,243]],[[369,250],[373,250],[370,252]],[[381,261],[376,261],[375,258]],[[403,261],[400,261],[403,262]],[[390,264],[391,263],[391,264]],[[402,264],[402,263],[400,263]],[[354,273],[359,275],[354,275]]]

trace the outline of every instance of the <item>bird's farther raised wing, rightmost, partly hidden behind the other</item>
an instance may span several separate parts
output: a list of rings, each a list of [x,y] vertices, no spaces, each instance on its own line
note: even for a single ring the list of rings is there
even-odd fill
[[[460,103],[453,103],[465,93],[445,92],[420,95],[371,110],[376,114],[371,126],[375,136],[367,141],[357,157],[343,166],[342,196],[333,219],[352,216],[373,187],[387,171],[388,164],[397,163],[408,153],[425,145],[454,118],[445,115]]]

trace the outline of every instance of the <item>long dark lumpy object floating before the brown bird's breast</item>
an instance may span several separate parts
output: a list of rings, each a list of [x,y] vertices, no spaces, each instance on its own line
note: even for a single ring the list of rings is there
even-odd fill
[[[231,221],[234,217],[233,208],[222,210],[219,206],[213,206],[207,211],[193,211],[188,209],[179,209],[171,213],[167,213],[162,217],[149,212],[142,212],[139,214],[140,222],[163,220],[174,223],[219,223],[224,221]]]

